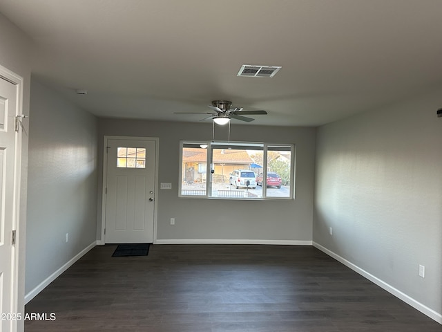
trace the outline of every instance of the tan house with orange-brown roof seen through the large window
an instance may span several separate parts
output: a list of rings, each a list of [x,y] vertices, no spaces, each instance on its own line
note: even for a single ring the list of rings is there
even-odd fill
[[[187,183],[206,181],[206,150],[183,149],[182,179]],[[233,169],[250,169],[252,158],[246,150],[213,149],[213,181],[229,182],[229,174]]]

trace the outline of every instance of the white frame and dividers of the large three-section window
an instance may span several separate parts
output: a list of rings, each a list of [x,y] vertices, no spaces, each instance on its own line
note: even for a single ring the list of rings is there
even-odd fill
[[[185,144],[191,145],[206,145],[207,155],[206,155],[206,185],[204,195],[183,195],[182,194],[182,183],[184,179],[183,176],[183,147]],[[240,145],[249,145],[249,146],[257,146],[262,145],[263,152],[263,164],[262,165],[262,173],[263,173],[263,183],[262,183],[262,197],[260,198],[252,198],[252,197],[218,197],[211,196],[212,193],[212,182],[211,181],[211,161],[212,161],[212,151],[216,149],[216,146],[226,146],[230,145],[231,147],[239,147]],[[290,147],[290,185],[289,185],[289,196],[267,196],[267,185],[265,181],[267,179],[267,151],[273,151],[272,147]],[[249,201],[260,201],[260,200],[293,200],[295,195],[295,153],[296,153],[296,145],[291,143],[267,143],[267,142],[220,142],[220,141],[199,141],[199,140],[180,140],[180,174],[179,174],[179,185],[178,185],[178,196],[184,199],[230,199],[230,200],[249,200]]]

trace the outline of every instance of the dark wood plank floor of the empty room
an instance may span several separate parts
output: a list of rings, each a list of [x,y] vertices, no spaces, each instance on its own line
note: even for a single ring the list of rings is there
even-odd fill
[[[311,246],[97,246],[26,305],[25,331],[432,332],[434,322]]]

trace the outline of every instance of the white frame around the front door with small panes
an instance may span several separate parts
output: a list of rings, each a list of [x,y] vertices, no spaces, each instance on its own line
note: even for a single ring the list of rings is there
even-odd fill
[[[159,165],[159,143],[160,139],[157,137],[142,137],[142,136],[108,136],[104,135],[103,139],[103,187],[102,187],[102,231],[100,244],[106,243],[106,187],[108,181],[108,140],[150,140],[155,142],[155,189],[153,192],[153,244],[157,242],[157,197],[158,197],[158,165]]]

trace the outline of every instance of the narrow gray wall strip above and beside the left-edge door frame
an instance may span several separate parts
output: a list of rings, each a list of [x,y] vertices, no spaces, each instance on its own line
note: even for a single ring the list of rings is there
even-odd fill
[[[23,114],[29,115],[30,46],[31,42],[17,26],[0,14],[0,65],[23,77]],[[17,246],[19,248],[18,306],[24,312],[25,247],[26,247],[26,187],[28,174],[28,121],[23,121],[21,146],[20,225]],[[23,331],[23,321],[18,322]]]

